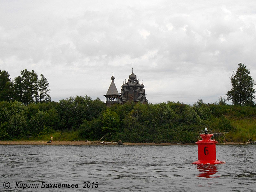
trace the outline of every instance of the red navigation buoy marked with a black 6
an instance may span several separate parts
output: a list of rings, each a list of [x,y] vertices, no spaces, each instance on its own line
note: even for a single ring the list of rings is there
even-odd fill
[[[207,133],[207,128],[204,129],[204,134],[200,135],[202,140],[196,142],[198,148],[198,161],[192,164],[220,164],[222,161],[216,160],[216,143],[218,141],[212,140],[213,134]]]

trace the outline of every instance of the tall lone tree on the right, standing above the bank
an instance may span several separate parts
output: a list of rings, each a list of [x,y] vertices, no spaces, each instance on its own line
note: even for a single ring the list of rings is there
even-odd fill
[[[255,98],[254,80],[249,75],[246,65],[240,62],[238,68],[230,77],[231,90],[227,92],[227,100],[232,100],[233,105],[251,105]]]

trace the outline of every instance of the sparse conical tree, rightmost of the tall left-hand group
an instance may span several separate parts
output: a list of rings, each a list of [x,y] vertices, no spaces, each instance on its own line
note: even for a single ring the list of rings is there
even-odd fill
[[[48,94],[51,89],[48,89],[49,83],[47,79],[41,74],[41,79],[38,83],[38,92],[39,92],[39,102],[51,101],[51,97]]]

